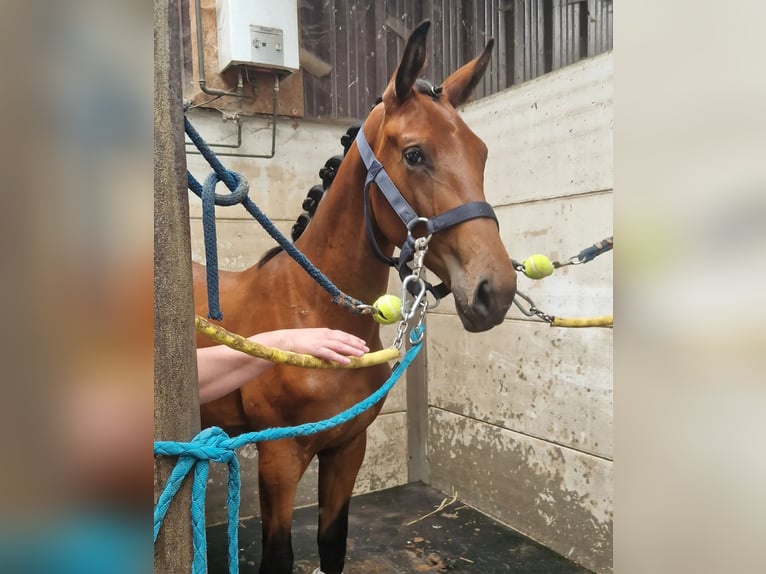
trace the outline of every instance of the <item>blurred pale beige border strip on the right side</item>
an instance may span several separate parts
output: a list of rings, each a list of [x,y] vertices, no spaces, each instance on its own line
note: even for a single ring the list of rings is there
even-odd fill
[[[615,572],[765,572],[766,4],[614,14]]]

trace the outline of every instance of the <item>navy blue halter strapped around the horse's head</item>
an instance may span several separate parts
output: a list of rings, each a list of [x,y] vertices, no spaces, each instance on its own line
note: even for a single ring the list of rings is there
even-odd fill
[[[372,151],[370,144],[367,143],[367,138],[364,135],[364,126],[359,129],[356,135],[356,145],[359,149],[359,154],[362,156],[362,161],[367,168],[367,178],[364,181],[364,225],[367,232],[367,240],[372,246],[375,255],[383,261],[386,265],[390,265],[398,269],[399,277],[404,278],[409,275],[409,268],[407,264],[412,260],[415,250],[415,238],[412,236],[412,230],[418,223],[425,224],[426,232],[428,235],[452,227],[463,221],[470,219],[476,219],[478,217],[487,217],[494,219],[497,223],[497,217],[492,206],[486,201],[471,201],[464,203],[453,209],[445,211],[439,215],[436,215],[430,219],[418,216],[412,206],[407,202],[401,192],[396,188],[394,182],[386,173],[383,168],[383,164],[375,157],[375,153]],[[389,205],[393,208],[396,214],[401,219],[407,228],[407,239],[404,240],[404,244],[400,247],[399,257],[386,257],[383,251],[380,249],[378,242],[375,239],[375,234],[372,228],[372,217],[370,214],[370,185],[375,182],[380,189],[383,196],[388,201]],[[499,226],[499,224],[498,224]],[[433,293],[437,298],[441,299],[443,296],[449,293],[449,288],[441,283],[436,287],[427,284],[428,290]]]

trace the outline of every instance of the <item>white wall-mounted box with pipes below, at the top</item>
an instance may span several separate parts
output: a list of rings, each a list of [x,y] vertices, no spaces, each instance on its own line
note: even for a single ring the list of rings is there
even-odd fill
[[[216,0],[218,69],[300,67],[297,0]]]

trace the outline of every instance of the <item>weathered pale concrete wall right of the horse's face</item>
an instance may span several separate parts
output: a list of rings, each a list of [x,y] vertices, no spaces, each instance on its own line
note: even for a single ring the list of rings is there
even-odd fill
[[[466,107],[489,147],[485,189],[515,259],[563,260],[612,235],[612,55]],[[562,317],[612,313],[612,255],[542,281]],[[612,569],[612,330],[560,329],[513,309],[467,334],[428,320],[431,483],[598,572]]]

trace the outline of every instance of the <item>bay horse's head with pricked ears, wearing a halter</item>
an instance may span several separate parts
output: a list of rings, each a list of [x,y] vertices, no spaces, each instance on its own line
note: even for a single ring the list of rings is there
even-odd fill
[[[382,101],[365,122],[371,127],[357,136],[368,169],[368,239],[404,275],[413,238],[432,235],[425,266],[454,294],[465,329],[485,331],[505,317],[516,273],[484,197],[487,147],[457,108],[483,76],[494,42],[434,87],[418,79],[429,27],[423,22],[408,39]],[[384,255],[394,245],[402,246],[402,261]]]

